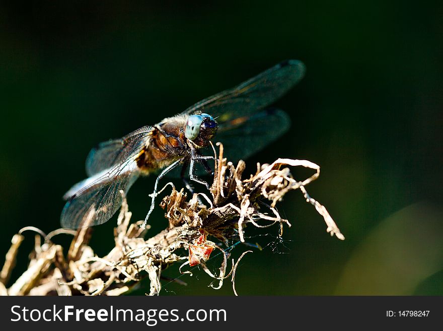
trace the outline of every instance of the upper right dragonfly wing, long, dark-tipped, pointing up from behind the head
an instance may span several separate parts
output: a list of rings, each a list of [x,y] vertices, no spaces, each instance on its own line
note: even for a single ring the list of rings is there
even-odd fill
[[[205,112],[217,122],[232,120],[263,109],[282,97],[305,74],[305,65],[298,60],[283,61],[242,84],[215,94],[184,113]]]

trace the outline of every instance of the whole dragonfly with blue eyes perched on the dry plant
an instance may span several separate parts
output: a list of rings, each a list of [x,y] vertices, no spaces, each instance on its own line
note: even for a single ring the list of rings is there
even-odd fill
[[[61,226],[77,229],[107,222],[121,206],[120,191],[127,194],[141,175],[161,171],[143,225],[155,208],[159,181],[168,173],[177,172],[174,169],[182,167],[180,177],[188,189],[192,190],[185,176],[188,167],[189,179],[208,187],[197,174],[196,165],[210,172],[207,161],[214,157],[204,154],[211,141],[223,143],[225,156],[233,161],[247,158],[275,141],[287,131],[290,120],[271,104],[297,84],[304,73],[302,61],[280,62],[158,124],[99,144],[86,159],[88,178],[73,185],[63,196],[66,203],[60,216]]]

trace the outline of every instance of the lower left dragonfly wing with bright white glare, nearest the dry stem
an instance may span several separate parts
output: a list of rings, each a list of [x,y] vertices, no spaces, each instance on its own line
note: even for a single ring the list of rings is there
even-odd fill
[[[116,166],[74,185],[65,194],[68,201],[61,212],[61,226],[77,229],[108,221],[121,205],[120,190],[126,194],[138,177],[134,167],[135,162]]]

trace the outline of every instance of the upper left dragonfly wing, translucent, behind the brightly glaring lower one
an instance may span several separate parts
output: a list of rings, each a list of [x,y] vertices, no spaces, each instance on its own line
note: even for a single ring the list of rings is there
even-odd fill
[[[120,164],[131,155],[138,154],[154,131],[153,126],[143,126],[121,139],[99,144],[86,158],[86,173],[93,176]]]

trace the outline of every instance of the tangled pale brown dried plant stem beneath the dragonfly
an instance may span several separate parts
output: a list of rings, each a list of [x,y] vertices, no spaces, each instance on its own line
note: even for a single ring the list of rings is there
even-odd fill
[[[292,178],[289,168],[284,166],[303,166],[316,172],[308,179],[297,181]],[[327,231],[344,239],[327,210],[311,198],[305,189],[307,184],[319,177],[318,165],[306,160],[278,159],[270,165],[257,165],[254,175],[242,179],[244,169],[243,161],[237,167],[227,162],[223,158],[223,146],[220,145],[211,196],[198,193],[188,201],[183,189],[177,191],[170,183],[172,191],[161,203],[169,225],[147,240],[144,239],[146,229],[140,228],[142,221],[130,224],[131,212],[123,197],[114,230],[115,247],[103,257],[98,257],[88,245],[91,228],[77,231],[58,229],[48,235],[33,227],[22,229],[14,235],[0,273],[0,294],[120,295],[149,277],[150,289],[146,289],[146,292],[158,295],[162,270],[178,261],[182,261],[182,273],[190,273],[182,271],[187,264],[194,266],[200,263],[203,270],[218,281],[216,285],[211,285],[214,289],[220,288],[224,279],[232,277],[234,293],[237,294],[235,270],[240,258],[248,251],[241,255],[237,263],[232,261],[231,271],[227,274],[229,252],[221,247],[233,236],[244,241],[247,224],[258,228],[278,224],[281,236],[283,225],[290,224],[280,217],[275,205],[289,190],[300,189],[306,201],[323,216]],[[35,237],[29,267],[11,287],[6,288],[25,230],[39,233]],[[72,232],[74,237],[64,255],[63,247],[52,243],[51,238],[66,232]],[[41,236],[44,238],[43,243]],[[209,241],[207,237],[212,237],[219,244]],[[213,275],[204,264],[213,249],[219,250],[224,257],[218,275]]]

